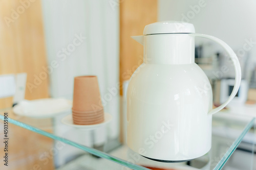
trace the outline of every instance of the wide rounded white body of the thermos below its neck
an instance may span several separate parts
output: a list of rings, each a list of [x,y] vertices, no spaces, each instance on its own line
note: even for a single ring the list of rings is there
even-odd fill
[[[212,92],[193,64],[145,64],[127,90],[127,144],[143,156],[188,160],[211,147]],[[145,152],[142,152],[142,151]]]

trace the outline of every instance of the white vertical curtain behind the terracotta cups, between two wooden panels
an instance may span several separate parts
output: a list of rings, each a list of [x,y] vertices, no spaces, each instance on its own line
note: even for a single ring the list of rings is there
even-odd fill
[[[42,0],[42,13],[51,97],[72,100],[74,77],[96,75],[113,116],[109,137],[118,137],[119,8],[105,0]]]

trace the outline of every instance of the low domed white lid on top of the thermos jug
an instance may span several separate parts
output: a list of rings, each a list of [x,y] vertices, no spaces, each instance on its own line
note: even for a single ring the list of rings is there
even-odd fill
[[[146,25],[143,35],[170,33],[195,33],[195,28],[192,23],[172,20],[161,21]]]

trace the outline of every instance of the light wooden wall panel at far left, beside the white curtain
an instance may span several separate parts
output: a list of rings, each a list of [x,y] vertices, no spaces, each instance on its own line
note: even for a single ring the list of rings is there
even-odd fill
[[[23,5],[21,2],[29,3]],[[46,65],[41,2],[0,1],[0,75],[27,72],[25,99],[48,98],[49,76],[42,73]],[[47,77],[35,85],[34,75],[40,77],[40,74]],[[28,83],[35,85],[32,90]],[[11,106],[9,101],[1,99],[0,108]]]

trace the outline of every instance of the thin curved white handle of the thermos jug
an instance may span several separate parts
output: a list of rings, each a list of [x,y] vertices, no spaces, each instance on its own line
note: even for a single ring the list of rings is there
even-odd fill
[[[216,38],[216,37],[210,36],[210,35],[204,35],[204,34],[191,34],[191,36],[208,38],[208,39],[214,40],[215,42],[217,42],[220,45],[222,45],[225,48],[226,52],[228,53],[229,57],[232,60],[233,65],[234,65],[234,72],[236,74],[236,77],[234,78],[234,88],[233,88],[233,91],[231,92],[229,98],[227,99],[227,101],[225,103],[223,103],[221,106],[219,106],[219,107],[217,107],[215,109],[212,109],[208,113],[208,114],[214,114],[214,113],[217,113],[220,110],[222,110],[225,106],[227,106],[227,104],[234,98],[234,96],[236,96],[236,94],[237,94],[237,92],[239,90],[240,83],[241,83],[241,67],[240,67],[240,63],[239,63],[237,55],[234,53],[232,48],[228,44],[226,44],[224,41],[220,40],[219,38]]]

